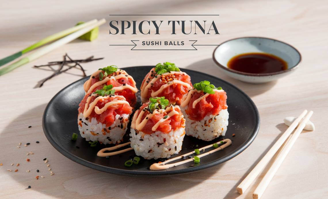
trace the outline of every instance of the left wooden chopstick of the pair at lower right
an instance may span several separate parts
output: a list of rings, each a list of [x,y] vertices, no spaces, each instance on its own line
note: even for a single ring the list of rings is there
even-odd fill
[[[277,140],[277,142],[271,147],[267,154],[259,161],[259,163],[254,167],[254,169],[249,173],[246,178],[238,185],[237,192],[242,194],[246,189],[251,185],[256,176],[262,171],[265,165],[270,161],[270,159],[276,154],[277,150],[281,145],[286,141],[288,136],[294,131],[298,123],[307,113],[307,110],[304,110],[300,116],[287,128],[287,130],[282,134],[282,136]]]

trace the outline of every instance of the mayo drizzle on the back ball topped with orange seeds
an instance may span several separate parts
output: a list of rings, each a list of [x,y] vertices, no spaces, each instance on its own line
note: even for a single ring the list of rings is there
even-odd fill
[[[147,94],[148,94],[148,91],[149,89],[152,87],[152,85],[158,80],[158,79],[161,79],[162,78],[162,75],[166,76],[166,75],[187,75],[186,73],[184,72],[181,72],[181,71],[171,71],[169,73],[163,73],[162,75],[155,75],[155,77],[150,80],[150,78],[152,78],[153,76],[155,75],[155,71],[154,71],[154,68],[151,70],[151,72],[149,73],[149,75],[146,77],[146,81],[144,82],[144,84],[142,85],[141,87],[141,97],[143,98],[147,98]],[[147,81],[150,80],[150,81]],[[187,87],[188,89],[191,89],[192,87],[186,83],[186,82],[183,82],[183,81],[180,81],[180,80],[172,80],[172,81],[169,81],[168,83],[166,84],[163,84],[158,91],[152,91],[151,95],[152,97],[156,97],[159,93],[161,93],[164,89],[166,89],[167,87],[173,85],[173,84],[181,84],[182,86],[184,87]]]

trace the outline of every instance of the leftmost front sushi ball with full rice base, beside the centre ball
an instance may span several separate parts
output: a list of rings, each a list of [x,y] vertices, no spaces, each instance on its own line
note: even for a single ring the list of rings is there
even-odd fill
[[[87,141],[120,143],[127,130],[132,108],[113,86],[86,94],[79,104],[78,128]]]

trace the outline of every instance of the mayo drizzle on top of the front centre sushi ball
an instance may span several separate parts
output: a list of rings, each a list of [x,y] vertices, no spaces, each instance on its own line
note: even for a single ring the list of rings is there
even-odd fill
[[[138,115],[138,117],[137,117],[136,119],[135,119],[135,117],[133,117],[131,127],[134,128],[134,129],[136,129],[136,130],[141,130],[141,129],[146,125],[147,121],[148,121],[150,118],[152,118],[153,115],[155,115],[155,114],[162,114],[162,113],[164,113],[164,112],[169,112],[169,111],[171,111],[169,114],[167,114],[167,118],[166,118],[166,119],[164,119],[164,118],[160,119],[160,120],[159,120],[159,121],[158,121],[158,122],[152,127],[152,131],[156,131],[156,129],[158,128],[158,126],[159,126],[162,122],[168,120],[170,117],[172,117],[172,116],[174,116],[174,115],[176,115],[176,114],[179,114],[179,112],[176,111],[175,108],[180,109],[179,107],[173,107],[172,105],[171,105],[170,107],[167,107],[166,109],[160,109],[160,110],[155,109],[155,110],[153,111],[153,113],[148,114],[148,115],[143,119],[142,122],[141,122],[141,119],[142,119],[142,116],[143,116],[143,114],[145,113],[145,111],[141,111],[140,114]],[[134,113],[134,115],[137,115],[138,112],[139,112],[139,110],[137,110],[137,111]]]

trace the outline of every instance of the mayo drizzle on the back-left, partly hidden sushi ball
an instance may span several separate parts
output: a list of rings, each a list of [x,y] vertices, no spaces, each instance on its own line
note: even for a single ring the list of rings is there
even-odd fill
[[[118,69],[118,70],[120,70],[120,69]],[[95,88],[97,88],[98,86],[101,86],[101,85],[107,83],[108,81],[110,81],[112,79],[114,79],[116,81],[118,79],[125,78],[125,79],[132,79],[132,82],[133,82],[134,87],[131,86],[131,85],[127,85],[127,84],[126,85],[119,86],[119,87],[114,87],[113,89],[115,89],[115,92],[119,92],[119,91],[122,91],[124,89],[130,89],[133,93],[138,92],[138,89],[135,87],[136,83],[135,83],[133,77],[130,76],[130,75],[127,75],[127,73],[125,71],[123,71],[123,70],[120,70],[121,74],[119,74],[119,75],[107,76],[103,80],[98,81],[98,82],[94,83],[93,85],[91,85],[92,76],[95,76],[95,75],[99,74],[101,71],[102,70],[98,70],[98,71],[94,72],[90,76],[89,80],[84,83],[84,85],[83,85],[84,91],[86,91],[87,93],[90,93]]]

